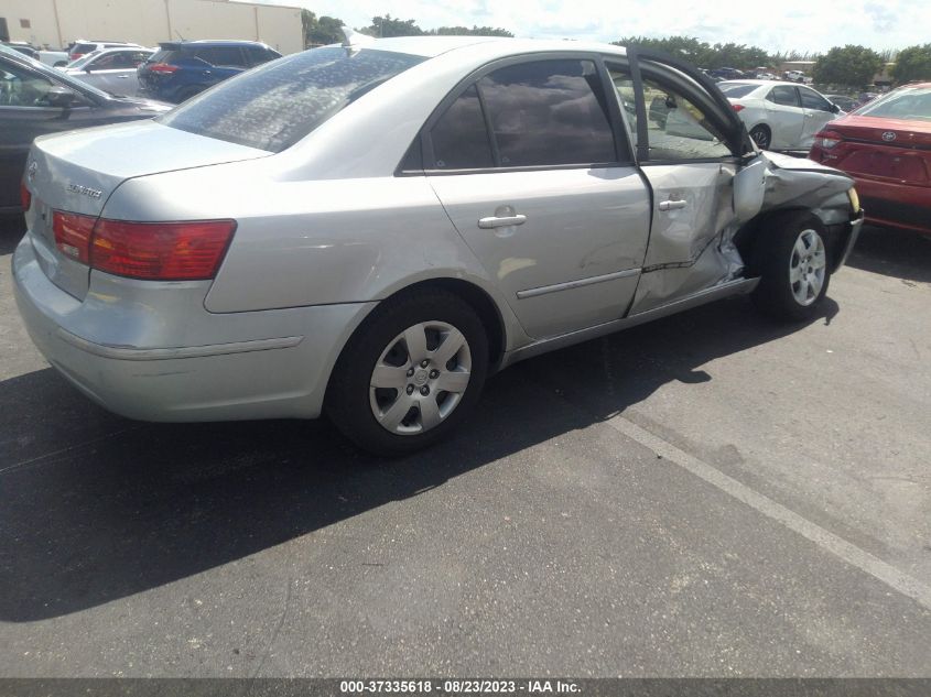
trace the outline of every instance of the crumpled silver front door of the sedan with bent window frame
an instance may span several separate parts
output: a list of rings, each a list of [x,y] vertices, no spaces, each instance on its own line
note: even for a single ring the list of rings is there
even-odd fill
[[[629,66],[608,59],[607,67],[652,189],[650,242],[630,308],[636,315],[739,277],[733,236],[762,204],[761,163],[741,163],[743,153],[728,142],[743,138],[744,127],[686,74],[641,61],[638,86]],[[642,123],[638,115],[657,99],[669,107],[667,118]],[[748,189],[737,186],[738,177],[757,181],[739,205],[735,190]]]

